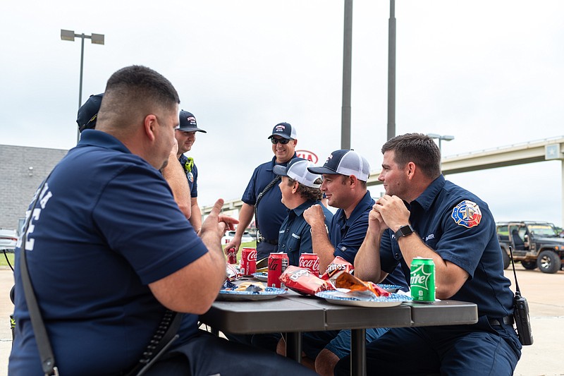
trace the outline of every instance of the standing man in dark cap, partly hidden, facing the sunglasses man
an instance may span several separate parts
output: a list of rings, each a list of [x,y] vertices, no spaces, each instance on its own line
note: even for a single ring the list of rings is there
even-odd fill
[[[198,169],[192,157],[186,157],[185,152],[192,150],[192,145],[196,142],[196,132],[207,133],[203,129],[197,127],[196,118],[188,111],[180,111],[180,126],[174,131],[174,137],[178,143],[178,152],[176,158],[182,166],[184,174],[188,179],[188,193],[190,195],[190,223],[195,231],[200,231],[202,227],[202,212],[198,206]],[[168,175],[167,168],[163,169],[163,175]],[[175,193],[176,197],[176,193]]]

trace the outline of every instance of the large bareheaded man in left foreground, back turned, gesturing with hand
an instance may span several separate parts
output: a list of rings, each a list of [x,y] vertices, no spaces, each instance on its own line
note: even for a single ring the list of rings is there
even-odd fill
[[[61,375],[127,374],[154,350],[167,310],[185,313],[183,326],[148,375],[308,374],[197,328],[225,281],[221,236],[236,221],[219,215],[220,199],[197,236],[159,172],[176,142],[179,102],[152,69],[120,69],[108,80],[96,129],[83,131],[37,190],[16,248],[9,374],[44,374],[23,252]]]

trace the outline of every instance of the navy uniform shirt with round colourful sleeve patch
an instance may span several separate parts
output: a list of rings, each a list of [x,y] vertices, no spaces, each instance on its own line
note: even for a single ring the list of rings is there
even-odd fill
[[[406,205],[417,236],[443,260],[470,275],[452,299],[476,303],[480,316],[500,318],[513,313],[513,293],[510,281],[503,276],[494,217],[486,202],[441,175]],[[409,270],[389,229],[382,236],[380,257],[385,272],[398,262]]]

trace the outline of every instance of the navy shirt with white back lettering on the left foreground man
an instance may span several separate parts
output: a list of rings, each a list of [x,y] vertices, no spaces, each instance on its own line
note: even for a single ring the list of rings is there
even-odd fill
[[[27,264],[61,373],[128,370],[157,329],[164,307],[147,284],[207,253],[157,169],[113,136],[86,130],[39,192]],[[16,248],[16,265],[20,248]],[[16,279],[13,375],[41,365]],[[197,332],[185,315],[180,336]]]

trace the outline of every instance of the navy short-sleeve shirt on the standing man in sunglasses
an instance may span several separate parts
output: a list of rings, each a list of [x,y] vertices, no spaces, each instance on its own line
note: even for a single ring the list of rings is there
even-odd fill
[[[295,154],[293,158],[295,158]],[[287,163],[280,165],[286,166]],[[273,157],[270,162],[257,166],[241,199],[245,204],[255,205],[257,197],[262,190],[277,177],[274,171],[272,171],[276,164],[276,157]],[[278,230],[280,230],[280,226],[285,218],[286,206],[282,203],[282,193],[278,183],[275,183],[259,202],[258,218],[255,218],[255,225],[266,240],[276,241],[278,239]]]

